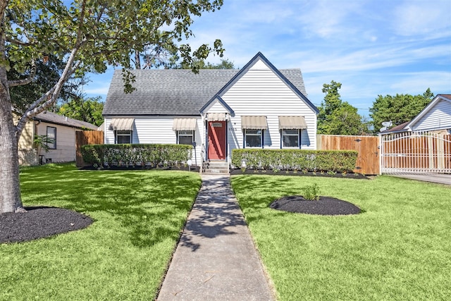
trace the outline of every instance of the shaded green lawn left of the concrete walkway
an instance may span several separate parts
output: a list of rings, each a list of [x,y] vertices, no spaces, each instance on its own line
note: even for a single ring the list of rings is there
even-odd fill
[[[84,212],[88,228],[0,245],[0,300],[153,300],[197,195],[198,174],[23,168],[25,206]]]

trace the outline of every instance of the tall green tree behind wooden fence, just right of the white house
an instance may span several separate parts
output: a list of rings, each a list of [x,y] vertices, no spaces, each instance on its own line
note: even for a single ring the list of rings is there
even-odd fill
[[[332,80],[323,85],[326,93],[318,114],[318,133],[323,135],[366,135],[368,128],[357,108],[342,102],[338,90],[340,82]]]

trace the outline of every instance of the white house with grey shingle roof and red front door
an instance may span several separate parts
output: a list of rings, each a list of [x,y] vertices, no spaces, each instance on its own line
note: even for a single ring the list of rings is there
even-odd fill
[[[116,70],[103,115],[105,144],[194,145],[193,164],[230,162],[232,149],[316,149],[316,106],[299,69],[258,53],[240,70]]]

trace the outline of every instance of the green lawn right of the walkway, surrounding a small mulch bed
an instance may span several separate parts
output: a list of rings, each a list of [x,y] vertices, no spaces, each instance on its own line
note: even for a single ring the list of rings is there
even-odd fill
[[[231,181],[279,300],[449,300],[450,186],[390,176]],[[315,183],[320,195],[345,199],[364,213],[314,216],[268,208]]]

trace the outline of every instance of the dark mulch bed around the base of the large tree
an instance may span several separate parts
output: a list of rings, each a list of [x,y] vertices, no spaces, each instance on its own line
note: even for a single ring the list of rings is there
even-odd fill
[[[55,207],[25,207],[25,213],[0,214],[0,243],[25,242],[75,231],[93,220],[78,212]]]

